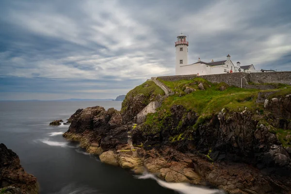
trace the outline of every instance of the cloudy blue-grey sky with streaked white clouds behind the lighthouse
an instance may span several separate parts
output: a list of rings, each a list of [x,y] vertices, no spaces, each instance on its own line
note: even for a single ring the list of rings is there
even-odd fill
[[[0,100],[115,98],[189,63],[291,70],[290,0],[1,0]]]

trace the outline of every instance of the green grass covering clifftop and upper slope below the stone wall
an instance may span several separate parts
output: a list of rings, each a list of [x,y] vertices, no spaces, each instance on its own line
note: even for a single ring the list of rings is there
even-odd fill
[[[246,107],[248,111],[258,115],[256,119],[264,119],[264,103],[256,102],[259,93],[273,92],[268,98],[291,94],[291,86],[284,84],[277,84],[277,88],[273,90],[257,90],[228,86],[226,83],[211,83],[202,78],[180,81],[159,81],[168,86],[175,94],[163,100],[162,106],[157,110],[157,113],[147,115],[146,122],[144,123],[146,134],[157,134],[161,129],[167,128],[167,125],[170,123],[169,121],[172,122],[173,120],[171,108],[174,105],[182,105],[187,113],[196,113],[197,121],[195,124],[187,126],[189,130],[195,130],[198,125],[204,123],[206,120],[210,120],[213,115],[217,115],[222,109],[231,113],[242,112]],[[142,85],[138,87],[142,87]],[[179,131],[181,128],[185,128],[183,119],[185,119],[187,113],[184,113],[185,115],[183,115],[179,124],[175,128],[171,127],[171,130]],[[282,143],[286,142],[284,140],[285,130],[275,129],[273,132]],[[183,135],[178,135],[172,138],[174,140],[183,138]]]

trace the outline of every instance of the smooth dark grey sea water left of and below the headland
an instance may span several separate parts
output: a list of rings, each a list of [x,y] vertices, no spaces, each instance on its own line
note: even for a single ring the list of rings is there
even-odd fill
[[[121,101],[16,101],[0,102],[0,143],[17,153],[21,165],[33,174],[40,194],[214,194],[205,187],[167,183],[151,174],[135,176],[130,171],[101,163],[78,144],[66,141],[64,121],[79,108],[103,106],[121,109]]]

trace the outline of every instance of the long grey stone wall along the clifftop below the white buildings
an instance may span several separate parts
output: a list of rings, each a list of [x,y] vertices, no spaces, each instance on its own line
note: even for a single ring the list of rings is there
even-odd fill
[[[228,85],[234,85],[237,87],[241,87],[241,79],[242,79],[242,87],[248,85],[248,82],[253,83],[285,83],[291,85],[291,71],[281,71],[281,72],[260,72],[260,73],[224,73],[224,74],[215,74],[215,75],[204,75],[204,76],[196,76],[196,75],[181,75],[181,76],[161,76],[157,77],[164,81],[178,81],[178,80],[192,80],[195,77],[204,78],[207,81],[212,83],[217,82],[225,82]],[[257,88],[257,86],[246,86],[247,88]],[[244,87],[244,88],[246,88]]]

